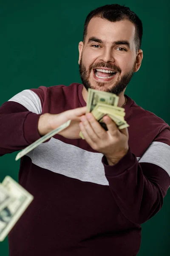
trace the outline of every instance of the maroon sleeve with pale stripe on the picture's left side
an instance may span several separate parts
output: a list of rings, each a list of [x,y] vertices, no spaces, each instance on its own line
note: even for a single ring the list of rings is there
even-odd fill
[[[31,90],[23,90],[0,107],[0,156],[40,138],[37,127],[41,112],[41,100]]]

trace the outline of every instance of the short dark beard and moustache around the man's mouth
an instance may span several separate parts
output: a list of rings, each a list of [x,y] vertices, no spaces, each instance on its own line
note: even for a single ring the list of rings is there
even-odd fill
[[[127,87],[127,84],[132,79],[132,76],[134,73],[133,69],[134,69],[135,64],[136,64],[136,62],[133,64],[133,68],[128,73],[126,73],[124,76],[122,76],[120,81],[116,81],[116,83],[111,88],[105,88],[105,85],[107,84],[107,82],[101,82],[101,81],[97,82],[97,85],[99,87],[98,90],[106,91],[108,93],[114,93],[117,96],[119,96],[119,94],[122,93],[123,90],[125,90],[125,88]],[[105,63],[105,62],[100,62],[98,64],[91,65],[89,67],[89,70],[86,70],[85,66],[82,64],[82,58],[81,58],[80,64],[79,64],[79,73],[80,73],[80,77],[82,79],[82,84],[84,85],[84,87],[87,91],[88,91],[88,88],[96,89],[95,87],[93,87],[93,85],[90,84],[90,74],[91,74],[91,70],[94,68],[97,68],[97,67],[98,68],[99,67],[111,68],[119,73],[121,73],[121,71],[122,71],[115,64],[110,64],[110,63]],[[108,83],[110,83],[110,81]]]

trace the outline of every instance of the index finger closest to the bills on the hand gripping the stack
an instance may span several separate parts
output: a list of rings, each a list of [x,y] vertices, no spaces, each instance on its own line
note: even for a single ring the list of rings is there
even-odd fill
[[[99,122],[94,118],[92,113],[87,113],[86,114],[87,119],[91,125],[91,127],[93,128],[93,130],[95,131],[95,133],[97,134],[98,138],[103,138],[106,135],[106,131],[104,128],[102,128],[102,126],[99,124]],[[95,138],[94,138],[95,139]]]

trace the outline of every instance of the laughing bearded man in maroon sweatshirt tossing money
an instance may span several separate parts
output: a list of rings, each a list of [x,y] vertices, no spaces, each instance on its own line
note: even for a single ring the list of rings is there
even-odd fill
[[[34,201],[9,234],[10,256],[137,255],[141,224],[170,186],[169,125],[124,96],[142,63],[141,40],[129,8],[102,6],[79,43],[82,84],[24,90],[1,106],[1,155],[72,120],[21,159],[19,182]],[[89,87],[119,96],[128,129],[105,116],[105,131],[85,114]]]

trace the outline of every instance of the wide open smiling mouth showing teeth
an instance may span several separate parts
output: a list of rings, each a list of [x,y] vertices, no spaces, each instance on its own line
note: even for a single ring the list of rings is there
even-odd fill
[[[117,72],[114,70],[105,70],[102,68],[94,69],[94,76],[97,80],[110,81],[116,75],[116,73]]]

